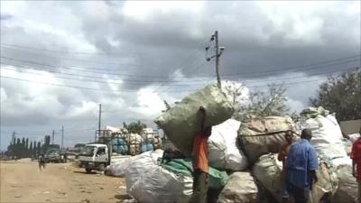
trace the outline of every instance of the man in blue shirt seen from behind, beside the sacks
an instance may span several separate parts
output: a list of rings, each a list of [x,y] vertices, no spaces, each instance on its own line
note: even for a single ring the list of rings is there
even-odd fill
[[[292,144],[286,161],[287,188],[296,203],[306,203],[313,180],[317,182],[319,163],[311,137],[310,129],[302,130],[301,141]]]

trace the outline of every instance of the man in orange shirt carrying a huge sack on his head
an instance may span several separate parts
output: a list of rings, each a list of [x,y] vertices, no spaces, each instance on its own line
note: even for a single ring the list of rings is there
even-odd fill
[[[205,126],[206,109],[199,107],[201,114],[200,130],[193,141],[193,194],[190,203],[206,203],[208,192],[208,137],[211,126]]]

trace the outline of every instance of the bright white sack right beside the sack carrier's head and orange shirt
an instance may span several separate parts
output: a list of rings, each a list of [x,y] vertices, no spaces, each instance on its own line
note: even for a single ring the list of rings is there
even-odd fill
[[[241,122],[228,119],[212,127],[208,138],[209,165],[218,170],[243,171],[248,161],[236,145],[237,131]]]

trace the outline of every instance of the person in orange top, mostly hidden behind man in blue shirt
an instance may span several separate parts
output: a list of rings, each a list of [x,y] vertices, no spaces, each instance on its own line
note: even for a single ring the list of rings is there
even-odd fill
[[[277,157],[278,161],[282,161],[282,175],[281,175],[282,183],[283,183],[283,188],[281,191],[282,203],[287,202],[288,198],[290,197],[286,188],[286,160],[292,144],[293,134],[294,133],[291,130],[288,130],[284,133],[284,138],[286,139],[286,143],[282,144],[280,152],[278,152],[278,157]]]

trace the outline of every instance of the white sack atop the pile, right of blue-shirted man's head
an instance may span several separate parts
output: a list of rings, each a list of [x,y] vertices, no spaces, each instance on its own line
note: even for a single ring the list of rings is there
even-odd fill
[[[321,108],[323,109],[323,108]],[[310,128],[312,139],[310,143],[318,152],[323,152],[330,159],[347,156],[343,143],[341,128],[338,125],[335,115],[307,114],[309,108],[301,112],[301,129]],[[326,111],[327,112],[327,111]]]

